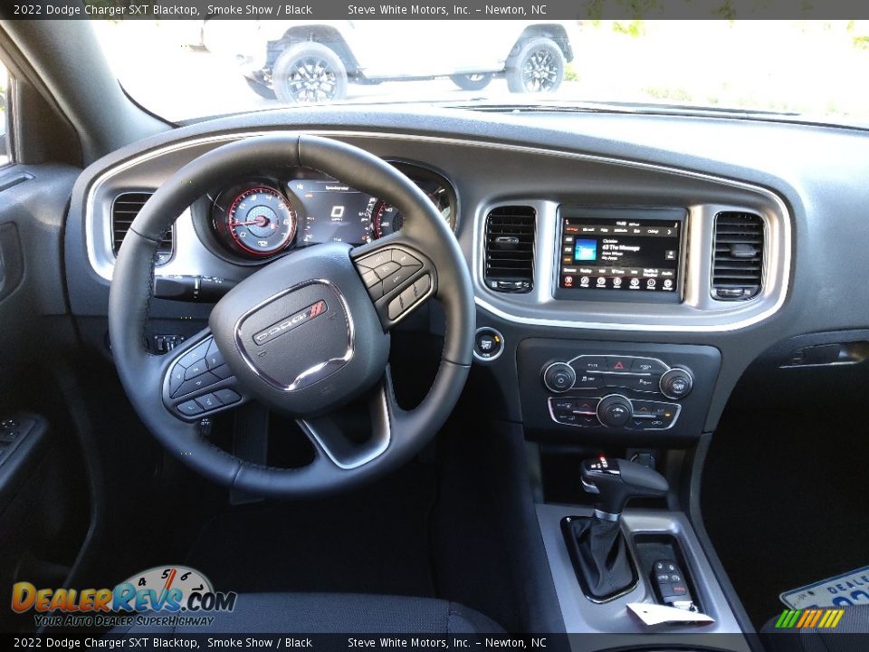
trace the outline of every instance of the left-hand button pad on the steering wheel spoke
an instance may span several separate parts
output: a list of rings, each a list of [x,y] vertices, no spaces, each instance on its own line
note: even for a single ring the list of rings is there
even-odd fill
[[[166,358],[163,405],[173,416],[196,421],[247,401],[210,330],[196,333]]]

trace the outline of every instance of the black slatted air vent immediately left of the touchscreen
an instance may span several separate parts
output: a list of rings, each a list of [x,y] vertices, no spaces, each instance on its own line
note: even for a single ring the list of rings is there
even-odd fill
[[[496,292],[534,287],[534,223],[531,206],[499,206],[486,216],[486,286]]]

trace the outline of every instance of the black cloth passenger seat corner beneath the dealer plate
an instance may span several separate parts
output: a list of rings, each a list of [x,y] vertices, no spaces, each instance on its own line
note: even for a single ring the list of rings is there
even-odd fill
[[[869,605],[842,609],[835,629],[776,629],[776,617],[760,629],[760,638],[769,652],[864,652],[869,649]]]

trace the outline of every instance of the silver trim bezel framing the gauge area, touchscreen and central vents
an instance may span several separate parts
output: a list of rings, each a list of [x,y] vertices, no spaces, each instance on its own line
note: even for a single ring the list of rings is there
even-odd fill
[[[348,129],[310,129],[310,130],[300,130],[300,129],[251,129],[251,130],[240,130],[234,131],[230,133],[222,133],[222,134],[213,134],[208,136],[200,136],[191,139],[182,139],[177,142],[171,143],[166,146],[157,147],[154,149],[149,149],[146,152],[142,152],[136,156],[128,158],[127,160],[119,163],[116,166],[108,168],[100,173],[99,176],[95,177],[91,182],[91,185],[86,190],[86,201],[85,201],[85,240],[87,247],[87,254],[89,262],[91,263],[91,267],[96,271],[101,278],[106,281],[110,281],[111,272],[114,266],[114,256],[105,256],[103,255],[102,259],[100,259],[99,254],[97,254],[97,246],[95,241],[95,229],[94,222],[96,218],[95,213],[95,203],[96,196],[101,187],[103,187],[111,178],[117,177],[120,173],[129,170],[130,168],[134,168],[135,166],[152,160],[154,158],[158,158],[160,156],[166,155],[170,152],[177,152],[184,149],[195,148],[197,146],[210,145],[215,144],[219,145],[225,142],[232,142],[238,139],[251,138],[254,136],[267,135],[272,134],[274,132],[285,132],[290,134],[300,134],[300,133],[308,133],[314,134],[318,136],[324,137],[333,137],[333,138],[349,138],[349,139],[383,139],[383,140],[405,140],[411,142],[427,142],[427,143],[444,143],[444,144],[452,144],[464,147],[475,147],[475,148],[484,148],[484,149],[492,149],[492,150],[501,150],[501,151],[513,151],[513,152],[526,152],[529,154],[536,154],[540,156],[554,157],[554,158],[564,158],[568,160],[578,160],[578,161],[587,161],[598,163],[602,165],[610,165],[610,166],[619,166],[623,168],[632,168],[637,170],[651,171],[654,173],[671,175],[674,177],[686,177],[694,180],[700,180],[707,183],[712,183],[724,187],[730,187],[742,192],[747,192],[755,197],[762,197],[765,202],[770,206],[769,213],[767,211],[761,211],[756,207],[750,206],[725,206],[718,204],[709,204],[709,205],[693,205],[686,206],[688,209],[688,219],[687,219],[687,230],[689,233],[688,238],[688,255],[691,255],[692,249],[694,249],[695,253],[692,256],[689,264],[689,269],[686,270],[686,273],[697,273],[700,272],[702,278],[709,278],[708,269],[711,264],[710,261],[705,261],[705,264],[699,260],[699,257],[702,256],[701,252],[696,252],[695,245],[698,245],[702,242],[702,240],[697,240],[692,234],[695,230],[695,225],[698,222],[706,223],[708,219],[700,219],[703,217],[703,214],[707,211],[712,212],[712,216],[714,216],[715,212],[721,211],[721,206],[725,206],[725,210],[743,210],[758,213],[764,221],[764,233],[765,233],[765,252],[764,252],[764,288],[759,294],[758,297],[751,299],[747,302],[739,302],[740,305],[734,306],[734,302],[714,302],[709,297],[708,282],[703,286],[702,291],[706,294],[708,301],[701,303],[699,299],[697,299],[697,306],[703,306],[702,312],[700,314],[705,315],[708,319],[706,321],[697,322],[692,321],[692,319],[684,319],[685,317],[696,317],[697,311],[696,309],[692,314],[686,313],[684,315],[656,315],[651,319],[641,319],[636,320],[633,315],[618,315],[617,319],[595,319],[594,316],[592,319],[584,319],[581,316],[577,319],[564,319],[564,318],[549,318],[549,317],[540,317],[533,316],[529,314],[521,314],[520,312],[513,310],[513,306],[511,306],[507,302],[501,301],[501,297],[498,297],[496,292],[490,292],[485,287],[484,283],[482,283],[482,266],[484,265],[484,259],[481,256],[482,253],[482,243],[484,238],[480,233],[480,224],[481,220],[488,215],[488,211],[491,210],[492,206],[497,204],[504,204],[505,201],[492,201],[482,203],[480,206],[477,206],[473,214],[473,234],[472,234],[472,256],[471,256],[471,264],[472,264],[472,276],[474,288],[476,290],[475,294],[475,302],[478,308],[483,311],[489,312],[496,317],[500,317],[506,321],[511,321],[513,323],[532,325],[532,326],[543,326],[543,327],[555,327],[555,328],[570,328],[570,329],[588,329],[588,330],[606,330],[606,331],[652,331],[652,332],[721,332],[721,331],[738,331],[740,329],[748,328],[759,321],[764,321],[771,317],[773,314],[778,312],[778,310],[784,305],[789,289],[790,275],[791,275],[791,260],[792,260],[792,216],[788,211],[788,207],[781,197],[771,190],[756,186],[754,184],[750,184],[743,181],[738,181],[726,177],[719,177],[716,175],[711,175],[703,172],[696,172],[693,170],[686,170],[683,168],[675,168],[672,166],[648,163],[644,161],[632,161],[625,160],[622,158],[612,158],[601,155],[587,154],[587,153],[579,153],[572,151],[564,151],[559,149],[547,149],[540,147],[533,147],[528,145],[517,145],[511,143],[498,143],[492,142],[488,140],[480,140],[474,141],[470,139],[454,139],[448,137],[440,137],[440,136],[425,136],[425,135],[413,135],[413,134],[401,134],[401,133],[388,133],[388,132],[374,132],[367,131],[364,129],[359,130],[348,130]],[[456,194],[458,194],[458,189],[455,190]],[[510,200],[510,203],[516,203],[513,200]],[[554,204],[558,206],[561,202],[555,202]],[[706,216],[708,217],[708,216]],[[772,220],[775,217],[775,224],[773,224]],[[181,220],[178,220],[181,222]],[[456,216],[456,223],[460,222],[459,216]],[[545,266],[548,259],[551,259],[551,256],[543,256],[540,255],[540,251],[538,251],[538,247],[540,246],[540,242],[542,238],[540,237],[540,225],[537,227],[538,236],[535,239],[535,260],[538,261],[537,269],[535,270],[537,273],[541,271],[544,274],[541,278],[549,279],[552,273],[552,270],[541,270],[541,264]],[[780,245],[779,250],[773,250],[772,248],[772,240],[775,239],[777,244]],[[549,265],[551,266],[552,262],[549,260]],[[707,273],[702,273],[703,269],[706,269]],[[769,270],[775,268],[777,275],[774,279],[775,283],[770,283],[769,278]],[[168,272],[168,270],[167,270]],[[690,282],[688,278],[686,278],[686,282]],[[539,283],[535,283],[535,285],[539,285]],[[699,292],[700,288],[696,286],[694,283],[693,288],[686,288],[685,297],[686,299],[691,296],[691,292]],[[551,288],[545,288],[547,291],[551,292]],[[532,292],[530,295],[524,296],[536,296],[538,295],[538,290]],[[725,305],[721,305],[725,304]],[[618,303],[611,302],[611,306],[616,306]],[[689,306],[691,307],[691,306]],[[521,306],[520,306],[521,308]],[[534,308],[540,312],[540,305],[534,305]],[[750,310],[746,310],[746,308],[750,308]],[[544,308],[544,310],[547,310]],[[742,313],[748,313],[743,316]],[[604,315],[606,317],[606,315]],[[687,321],[687,322],[683,322]]]

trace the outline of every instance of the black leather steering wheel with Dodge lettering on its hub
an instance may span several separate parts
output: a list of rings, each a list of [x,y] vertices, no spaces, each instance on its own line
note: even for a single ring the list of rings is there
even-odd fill
[[[204,331],[169,354],[149,353],[145,323],[161,235],[221,183],[300,166],[384,198],[404,216],[401,231],[368,245],[329,243],[284,255],[224,295]],[[444,305],[444,350],[428,394],[404,410],[389,373],[389,331],[432,296]],[[289,134],[221,146],[170,177],[130,226],[109,296],[112,355],[148,430],[216,483],[274,497],[346,489],[418,453],[462,392],[474,315],[462,251],[412,181],[362,149]],[[255,464],[203,436],[203,418],[249,400],[296,418],[315,449],[309,465]],[[366,436],[354,427],[351,402],[368,408]]]

